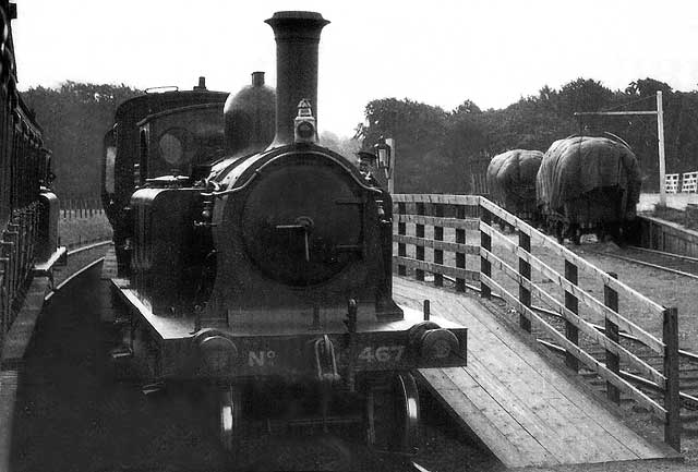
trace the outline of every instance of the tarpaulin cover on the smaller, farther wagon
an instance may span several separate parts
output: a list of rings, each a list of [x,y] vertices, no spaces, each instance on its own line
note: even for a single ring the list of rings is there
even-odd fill
[[[488,166],[488,189],[492,199],[509,211],[535,208],[535,176],[540,150],[513,149],[498,154]]]

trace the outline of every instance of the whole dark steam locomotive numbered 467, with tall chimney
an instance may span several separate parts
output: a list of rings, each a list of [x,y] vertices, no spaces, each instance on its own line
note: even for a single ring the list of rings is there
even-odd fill
[[[128,329],[113,356],[148,385],[206,385],[228,448],[262,422],[357,422],[411,451],[410,370],[464,365],[467,330],[393,301],[390,195],[317,142],[329,22],[266,23],[276,90],[254,73],[237,95],[202,82],[117,110],[103,195]]]

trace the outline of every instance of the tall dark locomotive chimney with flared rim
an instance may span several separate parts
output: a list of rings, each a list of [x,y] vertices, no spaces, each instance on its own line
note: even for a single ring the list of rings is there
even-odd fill
[[[276,136],[269,147],[293,142],[298,104],[306,98],[317,119],[317,45],[329,22],[315,12],[276,12],[267,20],[276,38]]]

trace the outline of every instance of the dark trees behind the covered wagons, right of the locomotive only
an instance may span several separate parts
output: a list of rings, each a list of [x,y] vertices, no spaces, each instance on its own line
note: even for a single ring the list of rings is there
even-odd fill
[[[638,156],[643,191],[659,185],[658,133],[654,116],[583,117],[576,111],[655,110],[663,93],[666,171],[698,170],[698,92],[673,90],[653,78],[611,90],[600,82],[578,78],[559,90],[544,86],[501,110],[481,110],[470,100],[445,111],[409,99],[369,102],[366,124],[356,138],[371,147],[381,135],[396,140],[396,191],[406,193],[470,192],[473,176],[490,158],[514,148],[545,152],[570,134],[610,132],[626,141]]]

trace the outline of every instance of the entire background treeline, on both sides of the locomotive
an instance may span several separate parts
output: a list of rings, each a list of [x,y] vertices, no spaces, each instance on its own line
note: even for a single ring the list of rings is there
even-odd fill
[[[654,110],[655,93],[664,95],[666,171],[698,170],[698,92],[673,90],[669,84],[643,78],[624,90],[578,78],[561,89],[544,86],[501,110],[481,110],[465,100],[455,110],[410,99],[384,98],[366,105],[366,124],[354,141],[323,134],[323,143],[350,155],[363,143],[371,147],[381,135],[397,144],[398,192],[473,190],[490,158],[513,148],[546,150],[553,141],[575,133],[614,133],[640,159],[643,190],[658,189],[657,121],[653,116],[585,117],[575,111]],[[56,190],[63,198],[89,198],[100,193],[103,137],[117,107],[141,92],[127,85],[65,82],[58,88],[36,87],[23,93],[44,128],[53,153]]]

